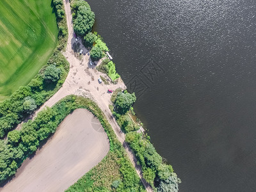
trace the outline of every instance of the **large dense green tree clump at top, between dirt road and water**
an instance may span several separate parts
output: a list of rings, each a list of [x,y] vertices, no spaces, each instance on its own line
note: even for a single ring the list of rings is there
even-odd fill
[[[74,31],[79,36],[85,36],[92,31],[95,15],[86,1],[79,0],[72,4],[74,12]]]

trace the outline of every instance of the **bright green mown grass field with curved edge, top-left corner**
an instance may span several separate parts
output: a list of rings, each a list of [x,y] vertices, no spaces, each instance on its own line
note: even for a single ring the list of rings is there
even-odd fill
[[[0,101],[36,76],[57,41],[51,0],[0,1]]]

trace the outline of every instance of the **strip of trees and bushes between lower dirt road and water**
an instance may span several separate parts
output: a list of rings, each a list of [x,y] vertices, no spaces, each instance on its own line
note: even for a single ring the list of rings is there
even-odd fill
[[[141,165],[143,178],[157,191],[178,191],[181,181],[173,172],[172,166],[163,162],[163,158],[157,154],[156,149],[150,143],[149,137],[145,138],[142,133],[137,132],[140,129],[139,125],[134,123],[129,116],[135,100],[134,93],[116,90],[111,97],[113,106],[109,106],[109,109],[118,125],[126,133],[125,141],[132,148]]]

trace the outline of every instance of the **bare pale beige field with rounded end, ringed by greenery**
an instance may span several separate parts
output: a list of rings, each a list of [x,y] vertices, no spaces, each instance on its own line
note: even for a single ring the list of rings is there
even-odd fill
[[[108,136],[99,120],[86,109],[76,109],[0,191],[64,191],[108,151]]]

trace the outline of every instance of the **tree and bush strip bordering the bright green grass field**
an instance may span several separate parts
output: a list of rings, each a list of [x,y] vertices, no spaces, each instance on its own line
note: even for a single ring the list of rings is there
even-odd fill
[[[58,9],[56,8],[58,7]],[[64,10],[62,1],[54,3],[54,11]],[[69,63],[59,50],[65,48],[67,43],[67,22],[65,15],[58,17],[57,24],[60,29],[58,47],[53,52],[47,65],[42,67],[40,72],[27,86],[20,86],[10,98],[0,104],[0,137],[12,130],[17,124],[22,122],[30,113],[44,104],[54,93],[56,93],[64,83]]]

